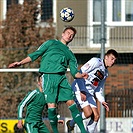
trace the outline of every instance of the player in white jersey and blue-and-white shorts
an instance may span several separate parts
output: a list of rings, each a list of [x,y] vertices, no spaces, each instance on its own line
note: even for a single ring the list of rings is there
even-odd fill
[[[93,57],[81,67],[81,73],[88,73],[87,79],[76,79],[72,83],[72,89],[75,93],[75,101],[82,109],[82,119],[90,116],[87,124],[87,131],[94,133],[100,114],[96,105],[96,99],[102,103],[109,111],[108,103],[102,95],[102,89],[106,78],[108,77],[108,67],[112,67],[118,57],[114,49],[110,49],[104,56],[104,59]],[[74,120],[67,121],[68,132],[74,130]]]

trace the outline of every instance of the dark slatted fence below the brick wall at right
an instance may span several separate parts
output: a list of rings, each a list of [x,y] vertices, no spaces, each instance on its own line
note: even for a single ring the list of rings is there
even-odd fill
[[[133,88],[115,90],[106,95],[110,106],[107,117],[133,117]]]

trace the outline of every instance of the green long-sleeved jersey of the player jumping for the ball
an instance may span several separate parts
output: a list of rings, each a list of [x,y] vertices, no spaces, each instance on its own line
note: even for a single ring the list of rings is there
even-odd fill
[[[74,54],[66,45],[58,40],[48,40],[28,56],[32,61],[40,56],[42,57],[39,69],[42,73],[65,74],[68,66],[73,77],[78,72],[77,60]]]

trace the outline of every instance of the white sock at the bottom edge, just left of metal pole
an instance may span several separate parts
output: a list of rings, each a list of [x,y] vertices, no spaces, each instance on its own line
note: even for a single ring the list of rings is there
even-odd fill
[[[97,122],[93,121],[92,119],[89,121],[88,125],[87,125],[87,131],[89,133],[94,133],[95,128],[97,126]]]

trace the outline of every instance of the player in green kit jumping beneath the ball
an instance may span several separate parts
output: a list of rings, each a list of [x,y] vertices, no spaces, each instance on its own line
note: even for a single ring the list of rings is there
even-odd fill
[[[14,68],[33,62],[40,56],[41,63],[39,72],[43,73],[43,91],[45,92],[48,104],[48,117],[54,133],[58,133],[56,104],[64,101],[69,106],[74,121],[79,126],[82,133],[85,133],[82,117],[73,100],[73,92],[65,75],[69,66],[74,78],[87,78],[88,74],[80,73],[77,69],[77,60],[68,48],[68,44],[76,34],[74,27],[66,27],[63,30],[61,40],[48,40],[44,42],[35,52],[31,53],[20,62],[14,62],[9,68]]]

